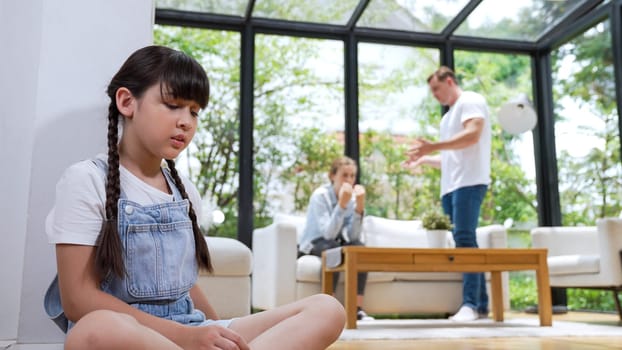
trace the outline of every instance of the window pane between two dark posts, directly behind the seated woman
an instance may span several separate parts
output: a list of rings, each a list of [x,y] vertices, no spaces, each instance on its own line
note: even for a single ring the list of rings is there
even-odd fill
[[[344,153],[343,42],[257,35],[255,226],[304,213]]]

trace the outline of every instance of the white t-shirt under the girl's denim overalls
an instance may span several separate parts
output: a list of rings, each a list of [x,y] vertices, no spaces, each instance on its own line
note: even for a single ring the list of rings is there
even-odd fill
[[[97,157],[106,160],[103,154]],[[119,167],[119,174],[121,190],[127,199],[141,205],[173,201],[172,194],[146,184],[122,165]],[[199,218],[199,192],[188,179],[181,175],[180,177]],[[105,216],[105,183],[105,172],[91,159],[75,163],[65,170],[56,184],[54,207],[45,220],[45,231],[50,243],[95,245]]]

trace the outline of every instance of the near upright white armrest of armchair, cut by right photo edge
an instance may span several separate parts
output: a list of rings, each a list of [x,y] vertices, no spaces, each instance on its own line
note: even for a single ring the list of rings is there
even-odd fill
[[[613,286],[622,286],[622,219],[598,219],[596,225],[600,273]]]

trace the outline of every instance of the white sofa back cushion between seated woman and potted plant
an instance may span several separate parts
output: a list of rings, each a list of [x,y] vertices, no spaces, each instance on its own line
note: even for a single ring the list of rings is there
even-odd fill
[[[363,235],[368,247],[426,248],[425,230],[420,220],[392,220],[377,216],[363,219]]]

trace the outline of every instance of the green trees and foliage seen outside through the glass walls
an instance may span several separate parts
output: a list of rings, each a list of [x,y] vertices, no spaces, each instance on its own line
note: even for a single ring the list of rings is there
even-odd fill
[[[159,0],[159,4],[166,3],[188,8],[215,6],[215,2],[210,1]],[[405,10],[397,3],[391,4],[391,11],[387,13]],[[302,15],[303,18],[304,11],[310,10],[307,5],[289,8],[276,1],[262,2],[260,6],[263,13]],[[331,6],[334,8],[324,12],[324,20],[335,20],[349,5],[335,2]],[[373,2],[370,6],[374,6]],[[565,11],[560,4],[545,2],[534,6],[540,6],[535,11],[543,16],[555,17]],[[430,28],[446,21],[441,12],[429,18],[432,18],[427,24]],[[541,25],[535,19],[521,18],[519,22],[526,23],[526,32]],[[511,27],[511,23],[504,26],[503,30],[507,29],[508,33],[517,29]],[[158,44],[193,55],[208,71],[212,98],[201,114],[200,129],[188,150],[187,157],[191,159],[188,172],[200,193],[213,199],[225,213],[225,223],[213,227],[211,234],[235,237],[240,163],[240,35],[156,26],[154,39]],[[330,128],[324,125],[327,120],[325,105],[344,98],[343,74],[330,75],[313,68],[319,55],[340,52],[343,45],[338,41],[262,34],[256,36],[255,44],[253,207],[255,224],[261,226],[270,221],[275,211],[283,208],[297,212],[306,210],[313,189],[327,181],[330,162],[344,153],[342,120]],[[383,48],[377,44],[360,44],[361,50],[374,45],[373,50]],[[409,91],[413,86],[421,89],[417,94],[426,89],[425,78],[438,65],[438,54],[435,50],[421,48],[408,52],[400,65],[390,66],[383,60],[359,65],[359,104],[362,106],[359,118],[362,122],[382,118],[373,114],[391,107],[388,96]],[[563,149],[558,153],[563,223],[592,224],[598,217],[617,216],[622,210],[620,138],[609,23],[600,24],[560,47],[553,56],[554,71],[559,71],[568,57],[576,62],[567,77],[556,77],[556,110],[562,97],[567,96],[599,116],[604,125],[582,129],[602,140],[585,156],[572,156]],[[537,221],[535,183],[527,178],[519,158],[519,147],[524,140],[501,130],[495,118],[499,107],[509,98],[532,91],[530,57],[456,51],[455,62],[463,89],[482,93],[490,106],[492,182],[482,205],[480,225],[499,223],[507,218],[517,223],[534,223]],[[401,166],[411,140],[438,137],[439,111],[438,103],[428,94],[427,98],[413,99],[412,104],[397,112],[416,121],[418,130],[415,133],[402,135],[381,129],[362,129],[359,174],[367,190],[368,214],[412,219],[421,217],[427,208],[440,205],[440,173],[425,168],[413,174]],[[569,118],[559,114],[557,120]],[[339,116],[340,111],[335,115]]]

